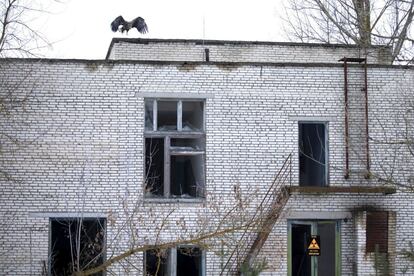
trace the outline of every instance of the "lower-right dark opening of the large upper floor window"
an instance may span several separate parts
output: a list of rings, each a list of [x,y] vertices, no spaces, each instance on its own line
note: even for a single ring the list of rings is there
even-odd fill
[[[202,196],[202,168],[202,155],[171,156],[171,194],[182,198]]]

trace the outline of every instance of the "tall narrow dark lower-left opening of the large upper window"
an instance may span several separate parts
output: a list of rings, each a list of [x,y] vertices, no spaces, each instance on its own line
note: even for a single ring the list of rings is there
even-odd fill
[[[164,196],[164,139],[145,139],[145,194]]]

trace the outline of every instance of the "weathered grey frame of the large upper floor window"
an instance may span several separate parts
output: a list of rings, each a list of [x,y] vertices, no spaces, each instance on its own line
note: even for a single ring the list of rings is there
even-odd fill
[[[152,101],[152,129],[147,129],[146,121],[147,121],[147,102]],[[158,102],[176,102],[177,103],[177,129],[176,130],[158,130]],[[183,102],[199,102],[202,103],[202,129],[201,130],[183,130]],[[169,201],[183,201],[183,202],[200,202],[204,201],[206,197],[206,99],[201,98],[144,98],[144,137],[143,137],[143,147],[144,147],[144,178],[147,174],[147,164],[146,164],[146,139],[151,138],[161,138],[164,141],[164,165],[163,165],[163,195],[151,195],[148,196],[146,193],[147,190],[147,182],[146,179],[143,179],[143,191],[144,191],[144,199],[148,201],[162,201],[162,202],[169,202]],[[201,139],[202,140],[202,150],[179,150],[174,149],[171,146],[172,139]],[[179,196],[175,197],[172,195],[172,183],[171,183],[171,156],[195,156],[201,155],[202,156],[202,175],[201,179],[201,186],[203,191],[201,195],[197,195],[195,197],[190,198],[181,198]]]

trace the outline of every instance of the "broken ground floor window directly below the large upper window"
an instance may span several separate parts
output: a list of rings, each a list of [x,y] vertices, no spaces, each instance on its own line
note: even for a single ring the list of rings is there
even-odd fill
[[[169,250],[145,252],[147,276],[203,276],[205,275],[203,251],[195,246],[179,246]]]

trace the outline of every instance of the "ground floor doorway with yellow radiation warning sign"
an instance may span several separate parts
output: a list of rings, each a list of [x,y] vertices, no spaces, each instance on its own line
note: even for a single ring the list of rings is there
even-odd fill
[[[288,227],[288,275],[340,275],[339,221],[292,220]]]

